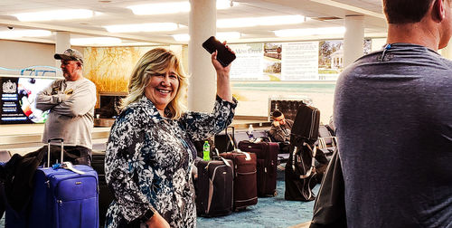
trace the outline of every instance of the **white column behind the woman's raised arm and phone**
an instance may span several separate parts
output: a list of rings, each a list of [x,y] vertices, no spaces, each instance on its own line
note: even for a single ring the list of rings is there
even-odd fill
[[[192,10],[189,15],[188,71],[188,109],[212,112],[216,94],[216,72],[212,66],[211,55],[202,48],[207,38],[215,35],[217,9],[215,0],[190,0]]]

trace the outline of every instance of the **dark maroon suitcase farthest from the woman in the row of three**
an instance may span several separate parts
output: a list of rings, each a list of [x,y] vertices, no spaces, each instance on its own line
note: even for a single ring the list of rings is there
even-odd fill
[[[239,149],[256,154],[258,196],[277,195],[278,143],[240,141]]]

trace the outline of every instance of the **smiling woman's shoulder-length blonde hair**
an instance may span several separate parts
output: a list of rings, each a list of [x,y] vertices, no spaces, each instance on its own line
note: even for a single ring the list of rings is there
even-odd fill
[[[179,119],[185,109],[182,99],[184,98],[184,92],[188,86],[188,78],[184,73],[181,62],[174,52],[166,50],[165,48],[155,48],[146,52],[140,58],[132,71],[130,81],[128,82],[128,96],[121,100],[119,109],[126,109],[127,105],[140,100],[145,96],[145,89],[151,75],[165,73],[170,66],[174,67],[174,71],[178,76],[179,88],[177,88],[174,99],[170,101],[166,108],[169,109],[172,114],[171,119]]]

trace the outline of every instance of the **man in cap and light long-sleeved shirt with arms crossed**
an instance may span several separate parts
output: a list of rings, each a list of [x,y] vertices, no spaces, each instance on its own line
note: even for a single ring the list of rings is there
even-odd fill
[[[36,97],[37,109],[50,110],[42,143],[47,143],[49,138],[62,138],[64,161],[89,165],[96,86],[83,77],[83,55],[79,51],[67,49],[53,57],[61,60],[64,80],[53,81]],[[52,145],[51,150],[52,160],[60,159],[61,148]]]

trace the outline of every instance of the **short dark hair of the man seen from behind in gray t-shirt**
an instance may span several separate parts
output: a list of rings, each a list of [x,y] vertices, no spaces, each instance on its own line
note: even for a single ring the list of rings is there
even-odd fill
[[[389,24],[418,23],[435,0],[383,0]]]

